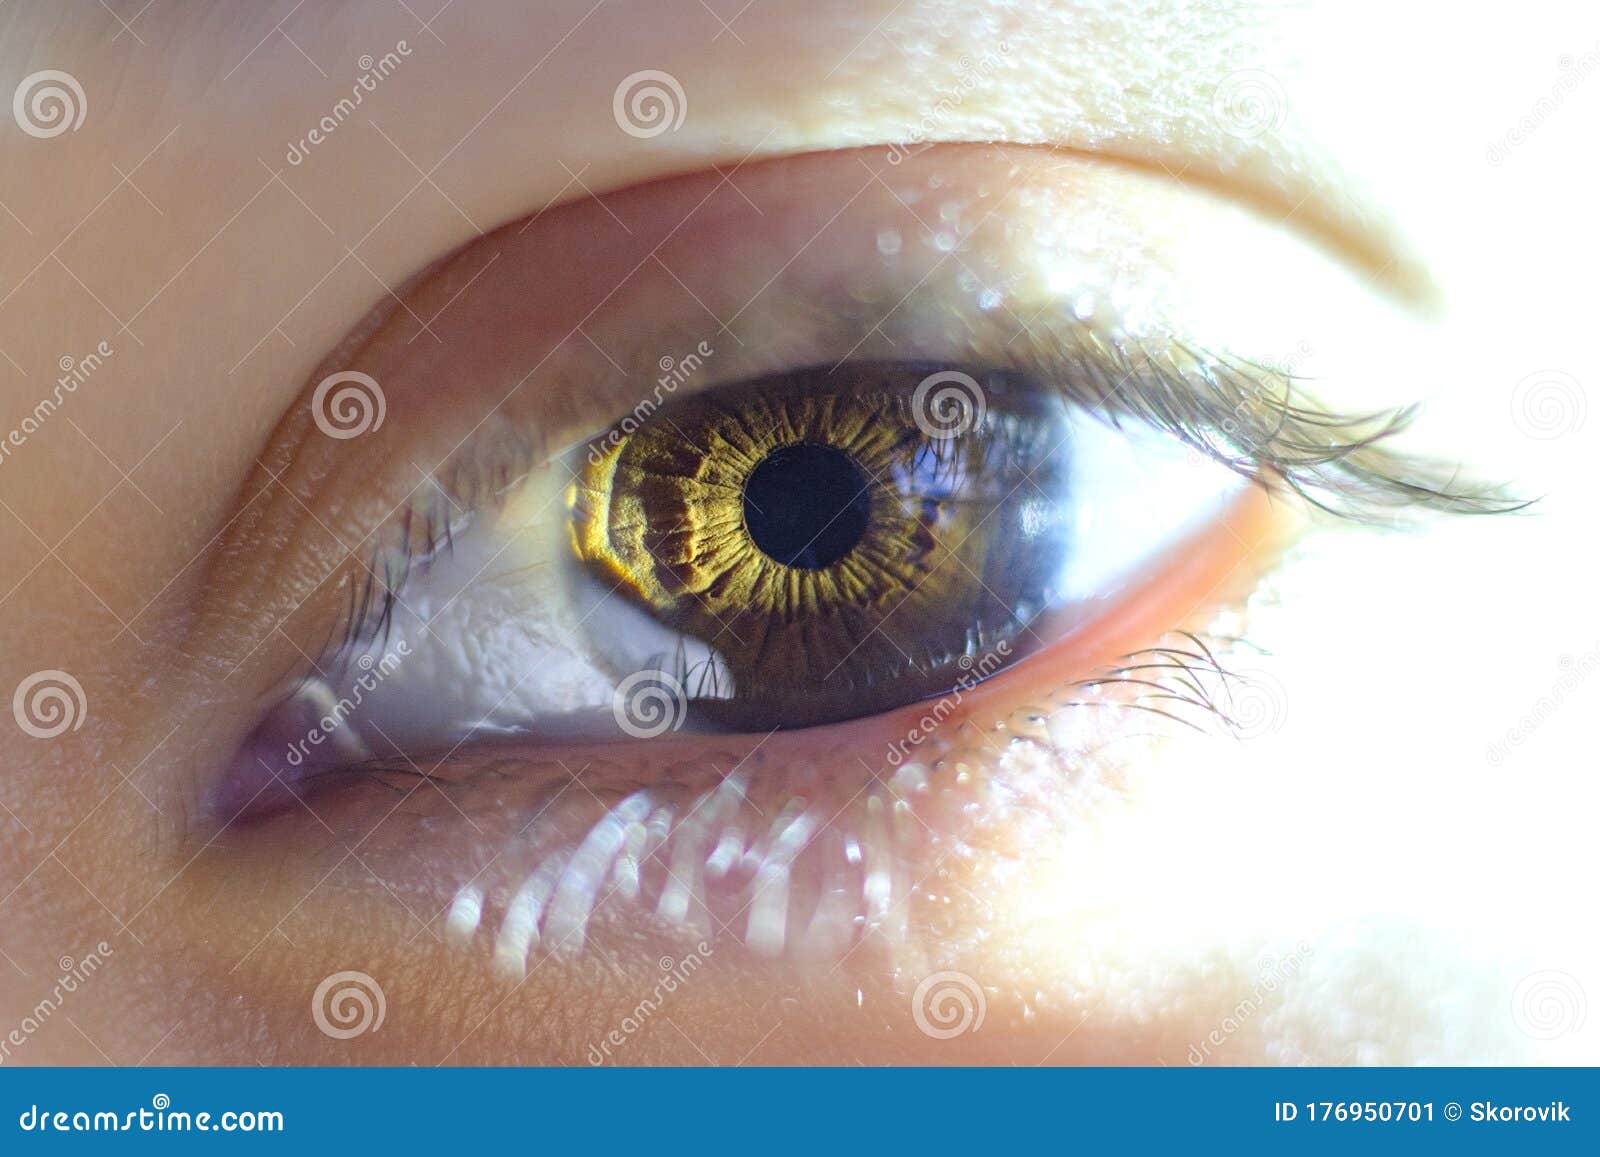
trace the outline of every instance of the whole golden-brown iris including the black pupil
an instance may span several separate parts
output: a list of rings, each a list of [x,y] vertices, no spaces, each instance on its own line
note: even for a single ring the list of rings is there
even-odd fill
[[[803,727],[955,683],[1027,631],[1067,539],[1062,402],[938,366],[845,365],[675,400],[568,491],[586,571],[714,658],[672,674],[712,719]],[[965,414],[966,421],[960,421]],[[944,419],[941,422],[941,419]]]

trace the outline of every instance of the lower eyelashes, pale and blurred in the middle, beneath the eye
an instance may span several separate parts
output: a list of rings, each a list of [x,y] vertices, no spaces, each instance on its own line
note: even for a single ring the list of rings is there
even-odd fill
[[[1075,680],[1061,688],[1054,696],[1050,696],[1048,703],[1051,707],[1048,709],[1074,712],[1075,709],[1120,707],[1130,712],[1160,717],[1170,723],[1202,733],[1221,730],[1224,735],[1234,733],[1235,736],[1243,736],[1245,733],[1232,715],[1232,706],[1235,695],[1243,698],[1242,691],[1248,691],[1250,685],[1243,675],[1227,669],[1218,659],[1219,650],[1237,648],[1240,643],[1242,640],[1227,635],[1171,632],[1158,645],[1125,656],[1110,671],[1093,679]],[[829,922],[821,925],[824,930],[830,930],[824,935],[843,936],[843,944],[856,944],[861,943],[861,938],[872,936],[880,947],[896,954],[896,957],[920,951],[914,941],[907,939],[909,930],[906,922],[912,919],[910,906],[917,903],[917,895],[915,888],[907,890],[906,866],[899,863],[899,856],[904,853],[901,845],[906,840],[906,832],[901,831],[904,818],[899,816],[899,808],[909,807],[910,815],[918,816],[922,824],[936,823],[933,815],[922,816],[923,792],[934,779],[942,778],[949,781],[952,770],[958,773],[963,763],[973,759],[971,752],[979,749],[992,751],[997,744],[1008,749],[1027,744],[1051,768],[1064,770],[1069,779],[1075,781],[1072,787],[1075,795],[1082,797],[1086,792],[1088,797],[1114,800],[1126,792],[1128,784],[1120,779],[1117,771],[1107,770],[1104,775],[1086,779],[1082,779],[1082,775],[1085,767],[1101,763],[1101,757],[1110,743],[1139,739],[1141,733],[1138,728],[1130,731],[1123,723],[1110,720],[1106,720],[1106,727],[1074,725],[1074,733],[1082,731],[1099,738],[1086,746],[1062,746],[1053,736],[1050,720],[1042,714],[1043,711],[1046,711],[1043,706],[1037,709],[1021,707],[992,731],[986,731],[970,720],[963,722],[952,728],[949,735],[941,735],[934,749],[918,751],[915,760],[898,765],[898,775],[883,784],[882,794],[875,792],[867,800],[864,810],[851,810],[846,816],[846,810],[842,808],[832,815],[827,827],[834,832],[834,843],[827,847],[834,853],[840,848],[854,847],[858,850],[856,858],[850,861],[856,866],[854,871],[864,874],[885,871],[888,875],[882,885],[880,907],[874,907],[872,898],[877,893],[870,887],[866,887],[864,893],[856,898],[854,906],[846,912],[830,912]],[[1112,714],[1120,715],[1120,712]],[[1085,722],[1088,720],[1085,719]],[[974,736],[965,736],[966,728],[974,728]],[[1077,741],[1072,741],[1072,744],[1077,744]],[[674,869],[666,869],[667,880],[658,879],[661,869],[669,863],[678,864],[678,859],[688,855],[696,863],[704,861],[709,875],[712,859],[722,856],[722,847],[730,831],[728,824],[733,824],[733,831],[739,832],[738,847],[744,848],[744,853],[734,853],[731,861],[723,861],[722,871],[715,874],[715,883],[718,891],[731,895],[734,903],[747,895],[752,896],[752,899],[739,904],[734,915],[730,917],[731,923],[738,923],[749,904],[754,903],[754,895],[762,893],[762,877],[750,875],[752,856],[760,863],[765,855],[773,855],[778,842],[787,840],[790,835],[786,827],[805,832],[803,850],[806,853],[805,866],[797,858],[786,861],[786,871],[792,869],[800,874],[822,871],[816,861],[818,858],[827,859],[827,848],[821,843],[813,847],[819,829],[814,826],[805,827],[806,819],[811,818],[811,808],[803,807],[802,811],[795,811],[797,805],[805,803],[803,797],[797,799],[789,787],[779,784],[779,795],[762,797],[762,802],[766,805],[763,810],[750,794],[755,789],[755,781],[749,776],[739,779],[734,775],[738,768],[739,765],[734,765],[734,770],[726,778],[718,776],[715,783],[699,787],[680,783],[666,786],[662,794],[634,791],[626,799],[619,795],[592,826],[573,831],[570,834],[571,839],[563,839],[555,845],[539,847],[531,837],[528,843],[523,843],[523,835],[533,826],[533,821],[530,821],[528,826],[502,847],[507,864],[520,864],[520,871],[510,872],[509,880],[496,883],[493,879],[483,875],[488,867],[485,866],[478,872],[469,874],[466,882],[454,890],[453,899],[446,904],[450,909],[450,915],[445,920],[446,939],[462,951],[474,943],[483,947],[486,939],[494,967],[507,968],[502,973],[507,981],[525,975],[523,970],[536,957],[538,963],[542,963],[542,959],[550,954],[574,946],[581,947],[584,943],[584,928],[590,915],[621,888],[619,872],[626,856],[618,855],[616,861],[606,866],[600,877],[590,880],[592,891],[587,904],[581,904],[579,909],[568,906],[568,911],[563,914],[565,923],[560,923],[555,915],[557,907],[560,907],[555,883],[560,880],[565,887],[570,872],[568,866],[576,859],[578,850],[586,847],[602,826],[621,823],[626,818],[624,813],[629,813],[629,813],[632,823],[629,826],[640,827],[648,816],[650,831],[654,832],[653,842],[626,853],[632,856],[630,863],[634,864],[634,891],[630,896],[635,903],[643,904],[646,909],[654,906],[658,919],[667,919],[669,925],[686,928],[691,936],[701,936],[707,941],[714,938],[715,931],[709,925],[702,927],[701,922],[712,920],[722,925],[723,931],[730,931],[733,936],[742,939],[749,949],[763,955],[810,951],[798,941],[786,941],[781,935],[774,944],[770,939],[770,923],[765,928],[766,935],[758,936],[754,917],[742,931],[739,928],[728,928],[728,922],[712,914],[712,901],[699,891],[682,898],[688,903],[686,912],[678,912],[675,917],[664,915],[669,890],[667,880],[680,882],[682,877],[675,875]],[[419,786],[432,784],[451,800],[451,805],[461,815],[472,815],[475,811],[472,792],[478,789],[494,791],[498,784],[525,779],[526,770],[517,757],[510,757],[509,760],[490,757],[486,760],[472,760],[469,768],[451,765],[443,770],[424,770],[410,760],[374,759],[358,767],[323,775],[338,776],[346,786],[365,784],[389,792],[397,800],[395,807],[410,799]],[[755,778],[758,779],[760,776]],[[1027,791],[1022,786],[1011,791],[1016,789]],[[526,802],[523,811],[534,818],[544,816],[547,808],[554,808],[563,791],[565,787],[562,786],[542,789],[538,797]],[[778,807],[781,800],[784,803]],[[874,802],[882,805],[885,800],[891,802],[896,808],[896,823],[890,829],[883,826],[883,813],[872,810]],[[707,805],[707,823],[694,827],[688,819],[696,816],[702,805]],[[726,811],[728,805],[733,808],[731,813]],[[747,815],[746,805],[754,805],[754,818]],[[930,807],[936,808],[939,805],[931,802]],[[829,805],[827,811],[832,811],[832,805]],[[877,821],[872,818],[874,815],[878,816]],[[746,826],[752,819],[755,829],[746,831]],[[918,827],[920,824],[917,823],[909,824],[909,829]],[[714,842],[715,851],[712,850]],[[762,848],[766,848],[766,851],[762,853]],[[861,859],[862,850],[866,850],[866,861]],[[891,866],[885,856],[894,858],[894,864]],[[499,859],[499,855],[494,859]],[[874,863],[878,864],[878,869],[872,867]],[[640,883],[640,869],[650,866],[654,866],[651,867],[651,879]],[[520,895],[520,890],[531,887],[536,879],[546,879],[549,887],[544,890],[541,911],[531,917],[531,925],[522,927],[522,938],[518,941],[518,936],[512,933],[512,928],[518,925],[514,915],[517,901],[512,899],[510,893],[518,891]],[[755,890],[754,893],[750,891],[752,888]],[[602,891],[603,896],[598,895]],[[557,893],[557,896],[552,898],[552,893]],[[787,891],[781,893],[781,923],[787,923],[790,901],[787,899]],[[893,904],[890,903],[891,898]],[[931,893],[928,899],[933,899]],[[459,928],[454,927],[458,907],[464,907],[470,914],[467,922],[470,927],[467,923]],[[821,904],[818,904],[811,912],[810,928],[806,933],[802,933],[800,939],[808,938],[811,930],[819,927],[822,911]],[[510,954],[502,960],[507,938],[517,943],[510,943]],[[835,944],[837,949],[838,944]],[[533,967],[538,967],[538,963]]]

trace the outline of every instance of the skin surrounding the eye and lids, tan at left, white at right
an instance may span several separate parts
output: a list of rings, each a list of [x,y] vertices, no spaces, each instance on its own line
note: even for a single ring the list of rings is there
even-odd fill
[[[722,19],[698,2],[531,14],[459,0],[426,27],[430,10],[387,3],[206,18],[154,5],[123,13],[126,27],[96,3],[70,19],[0,10],[5,90],[62,69],[88,101],[74,133],[0,133],[0,430],[34,413],[61,358],[114,349],[0,466],[0,691],[59,669],[88,701],[56,739],[0,715],[0,1037],[62,957],[112,946],[6,1063],[584,1063],[654,983],[654,943],[632,975],[552,963],[507,995],[381,890],[318,893],[331,861],[274,872],[272,848],[184,842],[174,800],[226,757],[163,739],[184,725],[173,688],[206,550],[330,347],[429,262],[590,192],[891,142],[909,125],[1131,158],[1259,208],[1264,251],[1309,237],[1395,333],[1421,334],[1379,342],[1422,366],[1374,368],[1381,389],[1318,349],[1350,405],[1429,400],[1419,445],[1550,499],[1533,518],[1408,538],[1310,534],[1248,624],[1288,693],[1280,725],[1243,752],[1170,752],[1139,808],[989,895],[990,935],[960,959],[989,986],[981,1032],[917,1034],[906,978],[872,962],[816,978],[730,946],[622,1059],[1182,1064],[1240,1002],[1243,1027],[1200,1045],[1206,1058],[1600,1058],[1597,1029],[1570,1011],[1600,994],[1581,899],[1595,869],[1584,719],[1600,691],[1584,672],[1600,623],[1579,565],[1594,432],[1573,416],[1600,378],[1576,272],[1597,256],[1597,98],[1558,88],[1557,64],[1595,51],[1594,18],[1552,5],[1510,32],[1374,37],[1394,13],[1331,3],[1181,19],[1160,3],[1110,18],[1069,3],[712,6]],[[1453,50],[1405,48],[1422,35]],[[997,37],[1013,69],[963,86]],[[395,74],[288,163],[358,58],[402,40]],[[1504,62],[1493,78],[1470,70],[1490,51]],[[680,130],[619,131],[613,91],[640,69],[682,83]],[[1285,96],[1270,133],[1230,133],[1213,107],[1246,69]],[[1491,165],[1491,144],[1552,90],[1526,142]],[[1430,298],[1424,326],[1413,314]],[[1578,392],[1563,386],[1558,413],[1534,421],[1515,387],[1546,370]],[[258,706],[253,688],[210,688],[208,711],[237,727]],[[1262,954],[1299,954],[1294,984],[1264,1003]],[[382,978],[379,1034],[315,1031],[310,991],[341,968]],[[1541,983],[1557,1013],[1531,1015],[1526,978],[1554,973]]]

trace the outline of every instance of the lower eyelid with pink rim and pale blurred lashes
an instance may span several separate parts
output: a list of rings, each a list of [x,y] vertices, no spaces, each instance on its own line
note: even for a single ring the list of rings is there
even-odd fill
[[[944,706],[768,736],[458,752],[437,768],[418,759],[357,771],[310,807],[339,839],[360,839],[370,871],[438,914],[440,935],[507,979],[552,952],[648,928],[797,960],[837,959],[866,938],[875,947],[862,967],[917,954],[952,919],[912,895],[918,880],[952,848],[968,861],[1027,855],[1040,826],[1059,835],[1082,821],[1074,776],[1128,728],[1115,707],[1162,687],[1144,666],[1171,664],[1141,659],[1138,685],[1085,677],[1238,594],[1275,530],[1269,498],[1250,490],[1174,549],[1170,574]],[[1192,640],[1178,648],[1197,651]],[[1171,703],[1162,709],[1171,715]],[[1040,760],[1002,770],[1011,744]],[[280,848],[306,839],[307,819],[291,811],[258,827],[238,835]],[[618,891],[626,903],[613,903]]]

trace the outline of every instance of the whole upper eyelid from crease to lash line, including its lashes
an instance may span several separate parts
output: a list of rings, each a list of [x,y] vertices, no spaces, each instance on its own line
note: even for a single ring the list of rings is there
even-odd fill
[[[606,203],[571,208],[560,222],[552,216],[526,234],[512,229],[434,262],[411,278],[416,291],[406,310],[387,309],[387,323],[362,326],[370,341],[341,342],[310,378],[315,382],[350,366],[376,373],[390,421],[360,440],[330,442],[320,437],[312,406],[293,406],[262,461],[272,480],[288,478],[298,491],[288,518],[272,518],[290,557],[246,562],[243,568],[275,565],[314,574],[325,594],[307,616],[315,616],[318,629],[339,621],[346,643],[384,631],[411,570],[440,542],[448,550],[456,507],[494,510],[498,494],[515,478],[581,446],[603,421],[626,421],[630,410],[635,421],[642,411],[653,413],[664,405],[661,389],[651,398],[651,384],[662,384],[658,366],[688,360],[662,354],[688,350],[702,350],[707,358],[686,379],[667,384],[666,394],[690,395],[826,366],[838,355],[870,362],[915,350],[920,362],[1053,384],[1110,426],[1146,422],[1262,488],[1288,491],[1347,518],[1390,523],[1418,509],[1515,506],[1493,488],[1397,453],[1389,440],[1410,421],[1410,410],[1320,410],[1307,397],[1307,379],[1291,371],[1301,352],[1320,347],[1320,341],[1314,346],[1302,338],[1282,368],[1270,352],[1267,363],[1208,352],[1285,349],[1280,342],[1286,334],[1306,333],[1293,317],[1296,302],[1318,302],[1317,288],[1326,288],[1317,280],[1325,258],[1304,254],[1304,245],[1290,246],[1288,266],[1277,258],[1270,266],[1283,274],[1299,270],[1302,258],[1309,262],[1312,288],[1282,298],[1285,310],[1275,307],[1274,294],[1262,298],[1256,288],[1270,283],[1259,275],[1266,266],[1256,277],[1248,275],[1250,262],[1238,274],[1229,272],[1229,243],[1242,230],[1248,248],[1259,230],[1243,219],[1246,214],[1222,214],[1214,229],[1189,227],[1190,208],[1170,202],[1202,198],[1170,189],[1146,203],[1150,190],[1131,187],[1133,178],[1085,171],[1067,179],[1058,171],[1074,163],[1067,158],[1043,165],[1035,158],[1032,168],[1008,173],[1003,190],[986,192],[986,181],[998,181],[992,158],[960,149],[941,152],[936,165],[906,163],[869,174],[869,184],[882,186],[877,202],[862,200],[845,214],[861,197],[851,192],[859,163],[859,154],[845,154],[826,165],[813,158],[752,166],[749,181],[758,179],[757,192],[765,187],[771,195],[768,224],[754,235],[744,216],[749,195],[726,192],[702,210],[720,186],[698,176],[622,190]],[[1042,176],[1045,168],[1048,176]],[[938,203],[914,211],[918,190],[933,189],[941,190]],[[986,208],[990,192],[995,200]],[[843,206],[834,208],[846,194]],[[1080,205],[1088,211],[1074,213]],[[1195,208],[1195,224],[1213,221],[1214,208]],[[928,227],[934,211],[950,230],[915,232],[915,243],[906,240],[902,251],[901,230],[910,238],[910,230]],[[610,237],[602,221],[606,214],[626,237]],[[845,256],[814,246],[830,251],[795,264],[795,246],[803,253],[829,229]],[[594,234],[592,261],[566,285],[568,278],[544,274],[571,251],[574,230]],[[682,253],[667,251],[672,264],[651,266],[646,246],[659,248],[674,237]],[[1194,237],[1205,240],[1187,245],[1184,238]],[[973,242],[971,251],[946,262],[942,254],[960,251],[963,238]],[[498,261],[507,250],[514,259]],[[973,266],[986,272],[978,275]],[[1203,277],[1219,267],[1218,278]],[[1210,288],[1194,288],[1184,275],[1189,269]],[[939,280],[931,280],[934,270],[942,270]],[[1346,286],[1344,274],[1334,280]],[[910,302],[907,283],[912,293],[920,286],[926,291]],[[978,294],[984,283],[1000,290]],[[472,301],[466,299],[467,286]],[[984,301],[989,294],[1000,307]],[[1048,304],[1034,314],[1042,298]],[[1336,294],[1336,309],[1328,312],[1346,317],[1339,312],[1346,302],[1347,296]],[[602,307],[606,312],[594,336],[582,326]],[[408,320],[416,317],[413,309],[432,317],[448,341],[413,346],[421,336]],[[718,309],[728,323],[718,320]],[[707,312],[718,322],[715,333]],[[1234,315],[1246,323],[1235,325]],[[648,323],[622,323],[629,317]],[[1366,318],[1358,302],[1354,317]],[[709,344],[696,341],[707,334],[717,346],[714,358]],[[1338,350],[1344,342],[1330,346]],[[1376,366],[1378,382],[1390,378],[1382,368]],[[1333,387],[1347,379],[1357,386],[1358,374],[1360,363]],[[411,485],[418,477],[421,490]],[[282,525],[304,522],[301,507],[315,509],[317,528],[328,531],[312,538],[331,539],[318,555],[294,544],[293,528]],[[378,544],[368,554],[374,536]],[[269,587],[266,594],[274,605],[293,600],[274,618],[302,605],[290,589]],[[350,602],[341,621],[342,599]],[[309,637],[294,650],[304,656],[302,647],[315,651],[318,642]],[[264,682],[298,671],[301,664],[288,650],[261,667]]]

